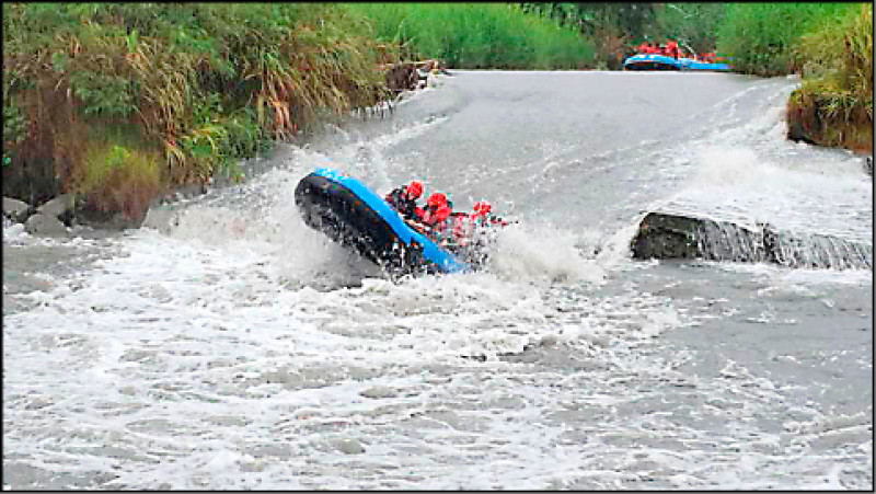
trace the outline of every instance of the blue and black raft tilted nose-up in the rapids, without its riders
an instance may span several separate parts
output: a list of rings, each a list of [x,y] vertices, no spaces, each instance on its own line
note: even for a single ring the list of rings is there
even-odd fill
[[[301,179],[295,202],[310,228],[395,275],[460,273],[473,266],[412,229],[358,180],[322,168]]]

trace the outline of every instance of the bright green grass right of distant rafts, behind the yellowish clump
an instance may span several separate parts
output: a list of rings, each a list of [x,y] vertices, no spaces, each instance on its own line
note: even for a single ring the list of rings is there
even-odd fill
[[[794,46],[820,23],[838,23],[860,3],[730,3],[718,26],[717,50],[736,71],[758,76],[794,72]]]

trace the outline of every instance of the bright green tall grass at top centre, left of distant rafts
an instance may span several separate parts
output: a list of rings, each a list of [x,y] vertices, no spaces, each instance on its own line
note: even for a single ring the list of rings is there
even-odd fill
[[[406,58],[459,69],[581,69],[592,43],[570,27],[504,3],[350,3]]]

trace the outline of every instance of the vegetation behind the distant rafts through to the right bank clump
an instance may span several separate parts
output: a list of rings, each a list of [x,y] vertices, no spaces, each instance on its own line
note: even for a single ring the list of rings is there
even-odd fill
[[[737,72],[802,73],[788,101],[795,139],[873,152],[872,3],[522,3],[593,39],[600,68],[643,41],[716,50]]]

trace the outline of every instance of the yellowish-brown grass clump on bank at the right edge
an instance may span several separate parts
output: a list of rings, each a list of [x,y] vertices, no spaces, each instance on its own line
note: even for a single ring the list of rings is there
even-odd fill
[[[791,134],[873,152],[873,7],[861,4],[800,38],[800,88],[788,100]]]

